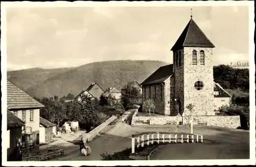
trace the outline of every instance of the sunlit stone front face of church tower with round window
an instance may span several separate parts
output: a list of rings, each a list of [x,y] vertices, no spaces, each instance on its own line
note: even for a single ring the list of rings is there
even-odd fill
[[[197,65],[192,65],[192,52],[197,51]],[[200,51],[204,51],[205,62],[200,65]],[[183,56],[182,56],[183,57]],[[184,115],[189,114],[188,104],[194,104],[195,115],[214,115],[214,74],[212,49],[208,47],[184,47]],[[195,83],[203,82],[197,90]]]

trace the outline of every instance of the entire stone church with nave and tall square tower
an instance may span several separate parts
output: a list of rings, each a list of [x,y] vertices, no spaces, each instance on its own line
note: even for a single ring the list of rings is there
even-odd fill
[[[160,67],[142,82],[142,101],[153,99],[156,112],[164,115],[179,111],[188,115],[188,104],[195,105],[193,115],[215,115],[217,107],[229,104],[230,95],[214,82],[214,47],[191,16],[171,49],[174,63]]]

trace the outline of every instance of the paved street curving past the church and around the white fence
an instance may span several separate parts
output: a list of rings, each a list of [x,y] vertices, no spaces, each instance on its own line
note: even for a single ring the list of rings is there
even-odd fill
[[[129,111],[126,114],[132,114]],[[61,147],[68,151],[67,156],[51,159],[55,160],[101,160],[100,154],[114,152],[131,147],[131,135],[150,131],[176,131],[176,126],[137,126],[132,127],[121,120],[114,126],[108,127],[105,132],[88,146],[92,149],[90,156],[80,156],[79,146],[71,144]],[[178,127],[178,132],[184,127]],[[167,145],[156,150],[151,159],[227,159],[249,157],[249,131],[229,130],[217,127],[195,126],[194,133],[204,135],[204,139],[215,140],[215,144],[178,144]],[[236,146],[236,147],[234,147]],[[204,153],[202,153],[204,150]],[[205,152],[207,150],[207,152]]]

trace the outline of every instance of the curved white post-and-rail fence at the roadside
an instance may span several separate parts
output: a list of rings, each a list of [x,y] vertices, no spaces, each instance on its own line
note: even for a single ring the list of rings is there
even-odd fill
[[[191,133],[174,133],[174,132],[145,132],[132,135],[132,153],[135,153],[135,147],[144,147],[146,145],[153,145],[154,141],[177,143],[177,142],[203,142],[203,135]],[[135,141],[136,140],[136,141]]]

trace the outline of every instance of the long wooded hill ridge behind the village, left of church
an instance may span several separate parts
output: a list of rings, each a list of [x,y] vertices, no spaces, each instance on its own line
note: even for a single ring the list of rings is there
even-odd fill
[[[84,64],[71,68],[29,68],[7,71],[7,79],[32,97],[59,98],[72,93],[75,96],[91,83],[103,89],[120,89],[130,81],[141,83],[160,66],[168,63],[152,60],[115,60]]]

